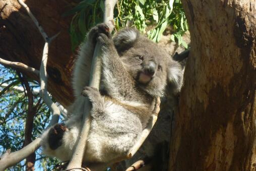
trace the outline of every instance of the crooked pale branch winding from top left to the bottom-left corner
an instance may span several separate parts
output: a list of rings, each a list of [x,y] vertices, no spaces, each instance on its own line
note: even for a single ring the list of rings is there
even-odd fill
[[[43,31],[43,28],[39,25],[38,21],[33,16],[31,11],[29,10],[28,6],[22,0],[18,0],[18,2],[27,11],[28,15],[33,20],[33,22],[35,23],[35,25],[37,26],[38,30],[40,31],[41,35],[43,36],[43,38],[45,40],[45,45],[43,48],[42,62],[41,62],[41,66],[40,66],[40,74],[39,74],[40,75],[40,85],[41,85],[40,96],[42,97],[42,99],[44,100],[46,105],[50,108],[51,112],[53,113],[52,119],[48,125],[48,127],[50,127],[58,122],[60,111],[59,111],[58,107],[52,102],[52,100],[50,99],[50,97],[47,94],[46,63],[47,63],[47,58],[48,58],[49,43],[59,33],[54,35],[52,38],[48,38],[47,34]],[[25,67],[25,68],[28,68],[28,67]],[[31,71],[31,72],[35,72],[35,71]],[[31,153],[33,153],[35,150],[37,150],[40,147],[40,141],[41,141],[41,138],[38,137],[37,139],[32,141],[30,144],[23,147],[21,150],[18,150],[18,151],[12,152],[12,153],[10,153],[8,151],[7,153],[9,155],[7,155],[7,153],[5,153],[1,157],[1,160],[0,160],[0,170],[5,170],[7,167],[14,165],[14,164],[20,162],[21,160],[23,160],[24,158],[26,158],[27,156],[29,156]]]

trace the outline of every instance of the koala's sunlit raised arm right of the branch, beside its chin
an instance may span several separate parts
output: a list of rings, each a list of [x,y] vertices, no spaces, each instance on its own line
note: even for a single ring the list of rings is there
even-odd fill
[[[102,46],[102,74],[106,91],[111,97],[119,100],[134,99],[134,95],[137,94],[134,89],[135,82],[124,68],[113,40],[108,34],[103,33],[99,34],[98,40]]]

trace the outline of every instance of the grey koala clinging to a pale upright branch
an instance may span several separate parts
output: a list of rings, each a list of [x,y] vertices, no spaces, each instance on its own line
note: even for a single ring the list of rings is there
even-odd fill
[[[97,40],[102,50],[100,90],[88,87]],[[182,79],[180,64],[135,28],[122,29],[112,38],[105,24],[93,27],[75,64],[76,100],[69,109],[69,119],[43,133],[43,153],[62,161],[71,159],[87,96],[92,103],[92,123],[83,161],[108,163],[123,156],[147,126],[166,84],[171,83],[172,92],[178,92]]]

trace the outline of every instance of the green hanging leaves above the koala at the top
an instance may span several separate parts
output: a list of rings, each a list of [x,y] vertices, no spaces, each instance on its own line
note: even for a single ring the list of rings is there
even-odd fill
[[[83,41],[88,30],[102,22],[104,1],[83,0],[64,16],[73,15],[70,25],[72,50],[74,51]],[[127,25],[136,26],[142,33],[147,31],[148,37],[155,42],[161,39],[166,27],[173,27],[172,41],[187,48],[182,35],[188,26],[180,0],[153,1],[153,0],[121,0],[114,10],[116,30]]]

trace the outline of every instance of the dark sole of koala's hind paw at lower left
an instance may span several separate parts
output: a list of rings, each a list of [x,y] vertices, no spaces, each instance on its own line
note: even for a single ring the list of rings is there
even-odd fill
[[[62,124],[56,124],[49,130],[48,143],[51,149],[57,149],[61,145],[61,139],[68,128]]]

